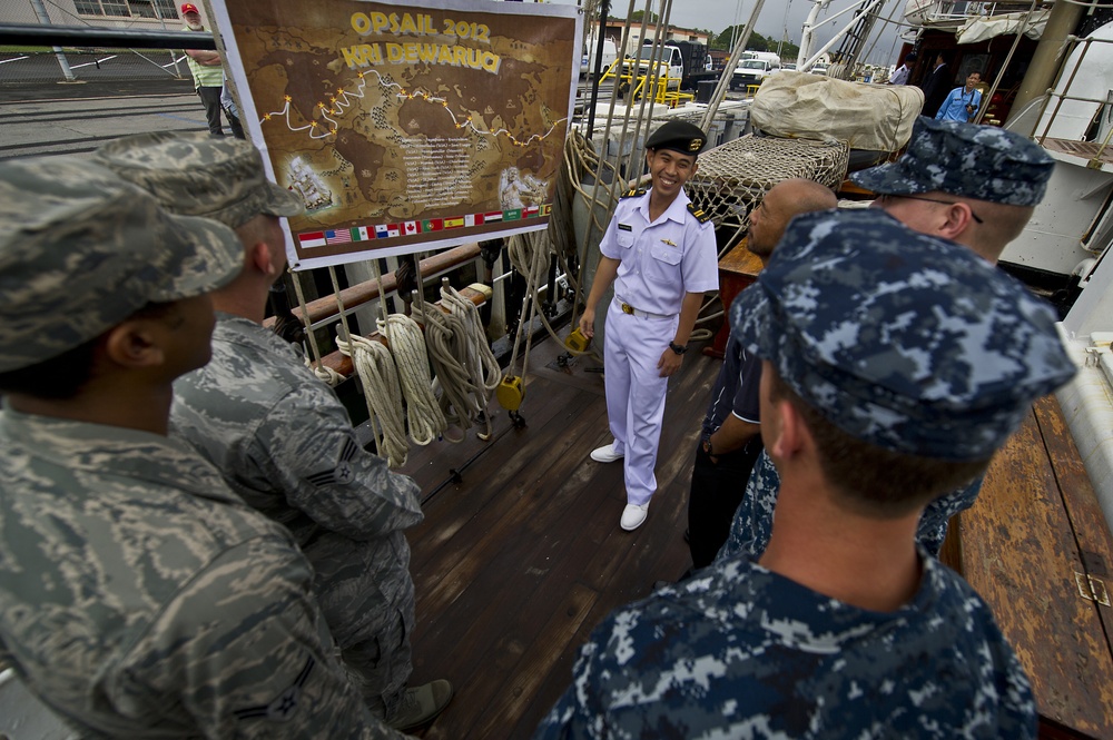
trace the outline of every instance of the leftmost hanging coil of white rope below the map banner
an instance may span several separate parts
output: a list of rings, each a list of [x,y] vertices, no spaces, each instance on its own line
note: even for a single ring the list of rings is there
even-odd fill
[[[342,353],[352,357],[352,364],[359,375],[372,430],[375,432],[375,448],[381,456],[386,452],[386,461],[391,467],[404,465],[410,445],[406,443],[402,411],[402,388],[391,351],[378,342],[358,335],[353,335],[348,342],[337,339],[336,345]],[[378,434],[380,428],[382,436]]]

